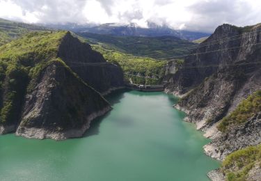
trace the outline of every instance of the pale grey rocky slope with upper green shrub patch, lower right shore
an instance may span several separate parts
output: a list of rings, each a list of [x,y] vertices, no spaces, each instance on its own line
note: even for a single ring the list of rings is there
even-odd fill
[[[207,155],[224,159],[226,155],[249,145],[261,143],[261,91],[243,100],[217,124],[219,136],[205,145]]]

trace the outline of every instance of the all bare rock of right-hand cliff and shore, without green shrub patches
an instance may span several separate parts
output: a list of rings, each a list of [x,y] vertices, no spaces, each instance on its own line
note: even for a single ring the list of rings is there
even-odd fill
[[[261,143],[260,113],[226,134],[216,128],[242,100],[261,89],[260,31],[260,25],[223,24],[184,59],[182,68],[166,76],[166,91],[182,96],[175,107],[212,139],[205,152],[216,159]]]

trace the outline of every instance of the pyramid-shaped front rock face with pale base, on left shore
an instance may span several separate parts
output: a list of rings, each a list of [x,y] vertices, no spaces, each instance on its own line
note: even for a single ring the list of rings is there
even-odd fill
[[[111,109],[104,98],[69,68],[52,63],[26,95],[17,135],[56,140],[79,137],[91,120]]]

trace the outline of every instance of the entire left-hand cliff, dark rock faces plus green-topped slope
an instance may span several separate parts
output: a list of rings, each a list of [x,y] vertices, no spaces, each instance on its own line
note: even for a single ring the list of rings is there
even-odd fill
[[[82,63],[94,63],[97,72]],[[80,67],[84,74],[77,74]],[[111,109],[91,86],[108,92],[122,86],[122,79],[118,66],[69,32],[29,33],[0,47],[0,134],[81,136],[91,120]]]

